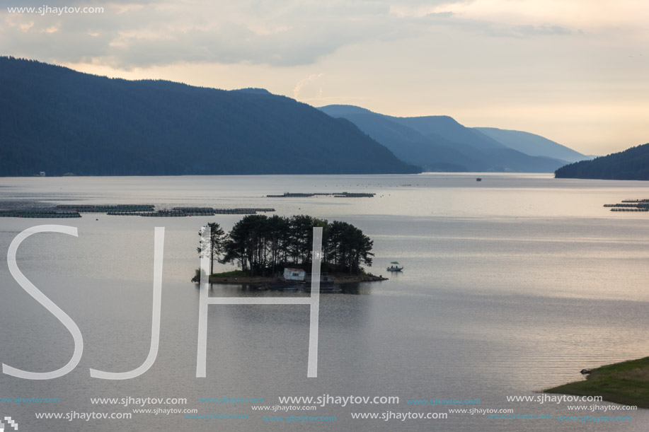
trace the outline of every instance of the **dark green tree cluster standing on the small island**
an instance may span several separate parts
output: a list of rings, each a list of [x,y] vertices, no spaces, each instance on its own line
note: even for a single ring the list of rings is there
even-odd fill
[[[372,266],[373,240],[347,222],[329,223],[305,215],[249,215],[237,222],[229,233],[218,223],[207,226],[211,229],[210,274],[214,274],[214,261],[234,263],[249,276],[272,276],[285,267],[308,270],[314,227],[322,228],[323,272],[360,274],[362,265]]]

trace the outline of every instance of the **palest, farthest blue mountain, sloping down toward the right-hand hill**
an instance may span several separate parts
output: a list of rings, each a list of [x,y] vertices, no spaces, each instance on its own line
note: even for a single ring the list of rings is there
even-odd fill
[[[591,159],[590,156],[582,155],[582,153],[574,151],[572,148],[562,146],[544,136],[530,134],[529,132],[498,129],[495,127],[474,127],[473,129],[490,136],[509,148],[513,148],[529,156],[547,156],[568,162]]]

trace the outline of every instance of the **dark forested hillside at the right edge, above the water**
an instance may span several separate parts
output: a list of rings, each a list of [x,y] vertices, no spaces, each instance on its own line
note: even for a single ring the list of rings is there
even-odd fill
[[[602,180],[649,180],[649,144],[619,153],[565,165],[554,173],[556,178],[592,178]]]

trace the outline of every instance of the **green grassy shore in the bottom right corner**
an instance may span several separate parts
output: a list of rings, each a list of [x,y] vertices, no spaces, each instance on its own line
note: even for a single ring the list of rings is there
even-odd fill
[[[602,396],[608,402],[649,408],[649,357],[593,369],[586,380],[544,390],[563,395]]]

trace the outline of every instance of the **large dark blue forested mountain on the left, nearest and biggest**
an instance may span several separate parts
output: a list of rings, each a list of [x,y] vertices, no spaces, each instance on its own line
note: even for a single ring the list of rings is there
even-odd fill
[[[0,175],[416,173],[351,122],[263,89],[0,57]]]

